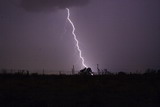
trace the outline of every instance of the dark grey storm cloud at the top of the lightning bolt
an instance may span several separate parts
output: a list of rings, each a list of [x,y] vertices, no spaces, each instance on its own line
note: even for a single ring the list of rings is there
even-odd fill
[[[21,0],[20,7],[26,11],[50,11],[73,6],[83,6],[90,0]]]

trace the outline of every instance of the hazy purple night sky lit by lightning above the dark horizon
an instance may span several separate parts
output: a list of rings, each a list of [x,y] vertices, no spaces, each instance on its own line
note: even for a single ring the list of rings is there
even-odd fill
[[[160,0],[0,0],[0,69],[160,68]]]

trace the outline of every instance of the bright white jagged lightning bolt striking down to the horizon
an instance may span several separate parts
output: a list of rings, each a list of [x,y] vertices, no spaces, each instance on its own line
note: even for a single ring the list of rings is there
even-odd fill
[[[73,28],[73,30],[72,30],[72,35],[74,36],[74,40],[76,41],[76,47],[77,47],[77,50],[78,50],[78,52],[79,52],[79,57],[80,57],[81,60],[82,60],[82,65],[83,65],[85,68],[88,68],[87,65],[84,63],[84,58],[83,58],[83,56],[82,56],[82,51],[81,51],[81,49],[80,49],[80,47],[79,47],[79,41],[78,41],[77,36],[76,36],[76,34],[75,34],[75,26],[74,26],[73,22],[72,22],[71,19],[70,19],[70,10],[69,10],[69,8],[66,8],[66,10],[67,10],[67,12],[68,12],[67,20],[68,20],[69,23],[72,25],[72,28]]]

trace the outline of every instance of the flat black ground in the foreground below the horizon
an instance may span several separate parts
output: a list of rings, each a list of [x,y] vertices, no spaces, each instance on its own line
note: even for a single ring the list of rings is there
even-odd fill
[[[160,107],[160,75],[0,75],[0,107]]]

